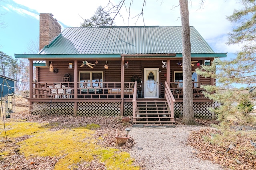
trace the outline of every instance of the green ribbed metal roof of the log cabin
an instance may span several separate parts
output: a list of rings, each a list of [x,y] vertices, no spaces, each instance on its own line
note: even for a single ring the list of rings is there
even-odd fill
[[[194,27],[190,27],[191,53],[214,53]],[[71,27],[38,54],[181,54],[182,27]]]

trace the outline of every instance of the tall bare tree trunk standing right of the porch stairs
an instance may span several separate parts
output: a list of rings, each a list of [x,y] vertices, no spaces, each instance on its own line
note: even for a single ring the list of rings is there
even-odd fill
[[[184,93],[182,122],[185,125],[194,125],[188,0],[179,0],[179,2],[182,23],[182,71]]]

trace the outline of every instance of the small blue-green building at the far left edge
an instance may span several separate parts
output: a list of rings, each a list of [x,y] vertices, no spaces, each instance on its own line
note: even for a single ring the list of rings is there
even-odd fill
[[[2,93],[2,97],[4,97],[6,94],[12,94],[15,92],[15,82],[18,80],[15,80],[13,78],[9,78],[3,75],[0,75],[0,88]]]

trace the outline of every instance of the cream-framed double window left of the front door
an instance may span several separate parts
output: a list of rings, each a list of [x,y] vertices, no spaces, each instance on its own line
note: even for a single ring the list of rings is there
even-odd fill
[[[103,72],[100,71],[80,71],[79,72],[79,81],[82,82],[80,83],[80,87],[102,87],[102,83],[97,83],[97,82],[102,82],[103,80]],[[88,83],[84,83],[88,82]]]

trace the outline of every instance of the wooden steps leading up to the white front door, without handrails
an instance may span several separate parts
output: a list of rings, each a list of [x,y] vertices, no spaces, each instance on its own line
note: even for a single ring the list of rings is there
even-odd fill
[[[170,124],[174,123],[166,99],[137,99],[133,116],[135,124]]]

